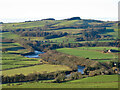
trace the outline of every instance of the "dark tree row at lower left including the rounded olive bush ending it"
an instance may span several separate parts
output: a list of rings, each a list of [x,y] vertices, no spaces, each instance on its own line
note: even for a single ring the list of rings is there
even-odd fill
[[[65,80],[66,74],[71,73],[72,71],[56,71],[56,72],[43,72],[43,73],[30,73],[28,75],[16,74],[14,76],[1,76],[2,83],[17,83],[17,82],[31,82],[39,80],[50,80],[55,79],[55,82],[61,82]],[[64,77],[64,78],[63,78]]]

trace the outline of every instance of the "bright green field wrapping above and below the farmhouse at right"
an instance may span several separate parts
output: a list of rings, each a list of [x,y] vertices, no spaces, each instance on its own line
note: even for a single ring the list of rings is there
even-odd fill
[[[103,50],[104,48],[108,49],[109,47],[61,48],[61,49],[57,49],[57,51],[79,57],[90,58],[90,59],[114,59],[115,57],[117,57],[117,55],[113,53],[102,53],[101,50]],[[115,47],[113,47],[112,49],[114,48]]]

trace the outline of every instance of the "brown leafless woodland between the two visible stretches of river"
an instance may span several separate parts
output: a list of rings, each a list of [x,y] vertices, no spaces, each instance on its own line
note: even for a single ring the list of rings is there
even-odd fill
[[[77,67],[78,65],[86,66],[86,67],[88,66],[98,67],[99,65],[101,65],[97,61],[60,53],[55,50],[47,51],[44,54],[40,54],[40,56],[43,60],[45,60],[50,64],[67,65],[70,68],[72,68],[72,70],[76,70],[78,68]]]

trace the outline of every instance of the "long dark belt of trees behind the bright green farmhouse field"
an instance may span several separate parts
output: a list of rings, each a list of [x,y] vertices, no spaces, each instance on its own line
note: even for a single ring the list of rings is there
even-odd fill
[[[115,41],[115,42],[85,42],[85,43],[53,43],[52,41],[46,41],[46,42],[41,42],[41,41],[33,41],[30,44],[31,47],[33,47],[35,50],[39,51],[48,51],[48,50],[53,50],[57,48],[75,48],[75,47],[82,47],[82,46],[87,46],[87,47],[97,47],[97,46],[112,46],[112,47],[119,47],[120,43]]]

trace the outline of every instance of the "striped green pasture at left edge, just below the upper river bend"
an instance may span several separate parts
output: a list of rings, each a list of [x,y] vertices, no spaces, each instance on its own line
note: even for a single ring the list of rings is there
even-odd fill
[[[16,54],[3,53],[2,54],[2,70],[39,64],[40,63],[39,60],[40,59],[25,58],[21,55],[16,55]]]

